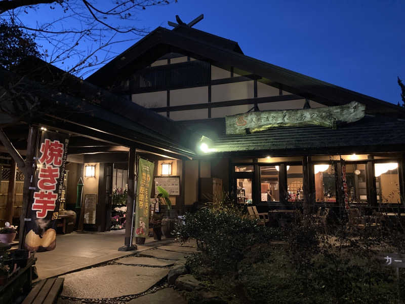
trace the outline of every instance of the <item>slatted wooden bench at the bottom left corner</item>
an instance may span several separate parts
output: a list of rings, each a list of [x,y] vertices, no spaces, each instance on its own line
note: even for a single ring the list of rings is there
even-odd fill
[[[22,304],[53,304],[63,288],[64,278],[39,281],[24,299]]]

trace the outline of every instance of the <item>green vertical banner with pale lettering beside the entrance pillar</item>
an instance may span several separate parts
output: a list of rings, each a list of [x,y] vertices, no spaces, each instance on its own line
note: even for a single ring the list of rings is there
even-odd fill
[[[138,161],[135,236],[146,238],[149,234],[149,204],[155,164],[144,159]]]

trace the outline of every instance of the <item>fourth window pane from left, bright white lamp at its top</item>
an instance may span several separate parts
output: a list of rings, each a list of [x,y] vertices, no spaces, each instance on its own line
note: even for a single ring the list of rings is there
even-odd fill
[[[316,202],[336,202],[335,168],[332,165],[314,165]]]

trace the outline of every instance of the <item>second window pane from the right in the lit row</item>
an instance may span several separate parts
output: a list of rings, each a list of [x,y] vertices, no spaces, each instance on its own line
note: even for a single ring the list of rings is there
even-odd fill
[[[366,164],[346,164],[346,182],[350,203],[367,202]]]

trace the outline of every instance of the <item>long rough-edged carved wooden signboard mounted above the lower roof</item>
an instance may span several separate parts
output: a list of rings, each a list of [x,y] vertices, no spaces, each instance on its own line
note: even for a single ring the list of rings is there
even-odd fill
[[[352,101],[345,105],[314,109],[249,112],[225,118],[226,134],[246,134],[274,127],[318,125],[336,128],[339,123],[352,123],[365,115],[366,106]],[[248,130],[247,130],[248,129]]]

